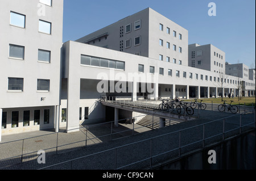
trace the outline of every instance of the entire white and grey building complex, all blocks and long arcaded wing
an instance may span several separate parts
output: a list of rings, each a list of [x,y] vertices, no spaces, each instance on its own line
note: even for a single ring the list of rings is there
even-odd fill
[[[255,96],[254,69],[234,68],[211,44],[188,45],[188,30],[150,8],[65,43],[62,0],[4,1],[0,14],[0,141],[105,121],[114,111],[98,102],[102,95]]]

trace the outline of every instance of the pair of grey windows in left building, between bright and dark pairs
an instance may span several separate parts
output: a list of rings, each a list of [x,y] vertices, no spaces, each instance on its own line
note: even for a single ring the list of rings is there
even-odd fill
[[[20,45],[9,44],[9,57],[24,60],[25,47]],[[51,51],[38,49],[38,61],[51,62]]]

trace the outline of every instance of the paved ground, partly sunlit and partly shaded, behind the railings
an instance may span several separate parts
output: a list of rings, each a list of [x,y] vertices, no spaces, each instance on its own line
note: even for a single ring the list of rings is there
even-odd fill
[[[22,133],[15,134],[11,136],[2,136],[2,141],[11,141],[11,140],[20,140],[28,137],[35,137],[28,139],[26,141],[15,141],[8,144],[0,144],[0,155],[5,155],[6,158],[8,154],[13,155],[13,152],[16,151],[14,157],[12,159],[6,159],[4,161],[0,161],[0,167],[12,165],[9,167],[5,167],[4,169],[42,169],[46,166],[55,165],[56,163],[61,163],[65,161],[69,161],[71,159],[76,159],[80,157],[84,157],[86,155],[90,155],[89,157],[85,157],[79,159],[77,161],[67,162],[65,164],[57,165],[52,169],[107,169],[112,170],[116,168],[122,168],[122,166],[129,165],[135,161],[140,161],[145,159],[143,162],[139,162],[138,164],[131,165],[130,167],[125,167],[125,169],[143,169],[149,165],[148,157],[150,157],[150,149],[152,155],[159,155],[164,153],[164,151],[168,151],[170,149],[175,149],[173,146],[179,145],[179,136],[177,132],[175,134],[168,134],[171,132],[179,131],[181,129],[193,127],[195,125],[209,123],[212,120],[220,119],[220,121],[216,121],[214,123],[210,123],[205,125],[205,138],[210,137],[213,134],[221,133],[223,128],[223,118],[232,116],[230,118],[225,119],[225,131],[233,128],[239,128],[240,125],[240,115],[236,114],[236,116],[232,113],[221,113],[217,111],[200,111],[200,118],[192,121],[186,121],[184,123],[172,125],[165,128],[151,129],[148,128],[140,128],[139,125],[136,125],[138,129],[134,129],[134,136],[132,135],[133,125],[130,124],[120,124],[118,128],[113,129],[112,133],[117,133],[123,131],[121,133],[112,134],[108,136],[102,136],[106,133],[110,133],[111,125],[104,124],[101,127],[92,127],[89,128],[86,134],[85,129],[81,129],[80,132],[74,133],[54,133],[52,131],[36,131],[30,133]],[[254,127],[255,120],[254,114],[241,115],[242,116],[242,125],[246,125],[249,123],[254,123],[250,126],[250,128]],[[247,127],[246,127],[247,128]],[[245,129],[245,128],[244,128]],[[255,128],[254,128],[255,129]],[[236,133],[239,129],[236,129]],[[193,129],[187,129],[181,133],[181,146],[189,144],[193,141],[197,141],[199,137],[202,135],[203,127],[196,127]],[[138,134],[139,133],[139,134]],[[45,136],[44,134],[48,134]],[[157,137],[163,134],[168,134],[166,136],[154,138],[150,141],[142,141],[148,138]],[[199,134],[200,136],[198,136]],[[230,132],[232,134],[232,132]],[[92,140],[88,140],[85,142],[85,135],[87,138],[93,138]],[[225,134],[228,136],[228,134]],[[39,137],[38,137],[39,136]],[[56,137],[57,136],[57,137]],[[123,137],[129,136],[129,137]],[[110,138],[112,137],[112,138]],[[220,136],[222,137],[222,136]],[[112,141],[110,141],[112,139]],[[216,138],[218,139],[218,138]],[[57,141],[57,143],[56,143]],[[137,144],[132,144],[133,142],[139,142]],[[167,141],[167,142],[166,142]],[[208,140],[210,142],[210,140]],[[214,141],[214,140],[213,140]],[[74,143],[75,142],[75,143]],[[24,144],[25,143],[25,144]],[[74,143],[74,144],[71,144]],[[101,144],[97,144],[101,143]],[[24,145],[23,145],[24,144]],[[56,144],[59,146],[57,149]],[[130,145],[131,144],[131,145]],[[207,144],[207,142],[205,142]],[[3,146],[5,145],[5,146]],[[21,146],[23,145],[23,146]],[[85,146],[86,145],[86,146]],[[120,147],[122,145],[127,145],[125,147]],[[39,164],[37,162],[37,151],[46,148],[46,164]],[[153,146],[150,148],[150,146]],[[199,146],[199,145],[195,145]],[[201,146],[201,143],[200,143]],[[118,149],[114,149],[117,148]],[[185,153],[186,151],[190,151],[194,146],[188,148],[184,148],[182,151]],[[4,148],[4,149],[3,149]],[[22,148],[22,150],[20,150]],[[53,148],[53,149],[52,149]],[[74,149],[75,148],[75,149]],[[108,150],[108,151],[105,151]],[[31,153],[32,154],[26,154]],[[20,153],[23,154],[21,158]],[[56,154],[57,153],[57,154]],[[99,153],[99,154],[96,154]],[[93,154],[93,155],[92,155]],[[95,155],[94,155],[95,154]],[[164,157],[165,154],[160,155],[159,157],[154,157],[152,159],[152,164],[156,164],[161,160],[166,160]],[[177,156],[176,151],[171,155],[168,155],[168,159],[170,157]],[[0,158],[3,159],[3,158]],[[32,159],[32,160],[31,160]],[[20,163],[20,161],[23,163]],[[18,163],[13,165],[13,163]]]

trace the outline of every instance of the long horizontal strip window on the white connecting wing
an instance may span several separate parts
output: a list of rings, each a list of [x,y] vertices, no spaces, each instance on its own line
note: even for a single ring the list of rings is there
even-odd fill
[[[101,68],[125,70],[125,62],[117,61],[117,60],[109,60],[109,59],[100,58],[100,57],[90,57],[83,54],[81,54],[81,65],[90,65],[90,66],[97,66]]]

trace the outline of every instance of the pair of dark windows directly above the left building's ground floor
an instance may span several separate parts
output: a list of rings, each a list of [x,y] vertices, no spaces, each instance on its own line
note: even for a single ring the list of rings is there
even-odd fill
[[[8,90],[23,92],[24,79],[23,78],[8,78]],[[38,79],[38,91],[49,91],[50,80],[49,79]]]

